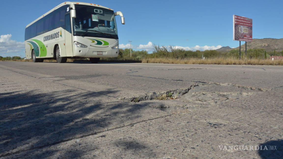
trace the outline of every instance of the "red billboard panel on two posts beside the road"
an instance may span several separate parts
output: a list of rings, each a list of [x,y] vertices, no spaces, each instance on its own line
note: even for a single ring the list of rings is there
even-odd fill
[[[252,41],[252,19],[233,15],[233,40]]]

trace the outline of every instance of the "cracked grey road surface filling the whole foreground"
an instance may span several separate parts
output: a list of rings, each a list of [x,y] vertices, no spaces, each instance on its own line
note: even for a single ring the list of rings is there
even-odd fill
[[[282,66],[3,61],[0,72],[1,159],[283,158]],[[176,99],[154,99],[164,93]]]

